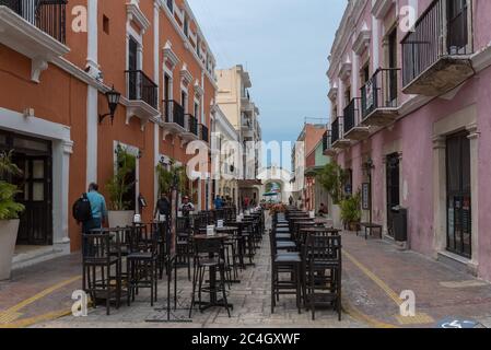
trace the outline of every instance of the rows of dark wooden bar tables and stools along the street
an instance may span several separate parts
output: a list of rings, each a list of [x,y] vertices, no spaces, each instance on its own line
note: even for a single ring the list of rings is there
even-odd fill
[[[235,208],[223,208],[84,234],[83,289],[94,306],[104,303],[106,314],[113,305],[119,308],[125,298],[129,307],[137,300],[154,306],[164,276],[168,284],[183,269],[179,275],[187,275],[187,281],[179,283],[189,283],[191,290],[189,317],[195,310],[211,307],[223,307],[231,316],[230,296],[244,282],[241,272],[255,266],[266,232],[262,209],[236,213]],[[271,264],[271,312],[281,299],[293,296],[299,313],[306,308],[315,319],[318,308],[329,306],[340,318],[340,231],[294,207],[272,212],[270,219],[266,252]],[[171,222],[176,223],[175,235]],[[142,293],[145,289],[150,295]]]

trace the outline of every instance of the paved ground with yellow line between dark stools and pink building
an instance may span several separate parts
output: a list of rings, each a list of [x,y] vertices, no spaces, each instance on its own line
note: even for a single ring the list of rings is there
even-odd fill
[[[464,317],[491,327],[491,284],[387,241],[343,234],[343,292],[375,327],[434,327]],[[416,295],[416,317],[401,317],[399,295]]]

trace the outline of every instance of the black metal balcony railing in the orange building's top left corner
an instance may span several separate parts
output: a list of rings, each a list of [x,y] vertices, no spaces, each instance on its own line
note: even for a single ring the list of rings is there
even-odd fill
[[[66,43],[67,0],[0,0],[32,25]]]

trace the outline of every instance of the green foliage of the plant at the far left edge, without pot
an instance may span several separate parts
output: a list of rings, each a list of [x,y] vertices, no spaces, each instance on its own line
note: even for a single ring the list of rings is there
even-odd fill
[[[0,178],[21,174],[21,170],[12,163],[12,151],[0,153]],[[15,185],[0,180],[0,220],[19,219],[19,214],[25,210],[23,205],[15,201],[15,195],[19,192]]]

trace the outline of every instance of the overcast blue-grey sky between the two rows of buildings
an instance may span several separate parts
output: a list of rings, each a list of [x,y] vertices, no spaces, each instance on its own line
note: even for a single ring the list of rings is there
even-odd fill
[[[218,68],[250,73],[265,141],[328,116],[327,57],[346,0],[188,0]]]

